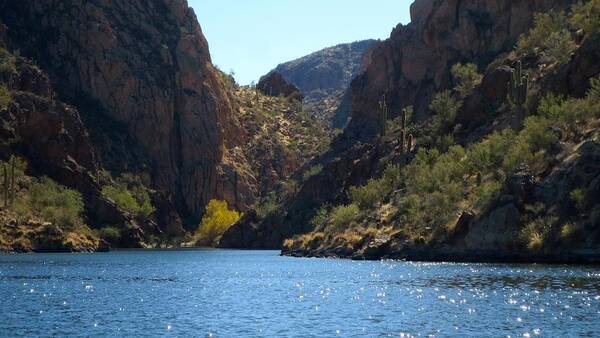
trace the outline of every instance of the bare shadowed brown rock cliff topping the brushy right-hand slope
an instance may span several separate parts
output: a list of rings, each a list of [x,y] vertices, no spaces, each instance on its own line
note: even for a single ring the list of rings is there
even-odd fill
[[[383,94],[394,118],[414,106],[427,117],[435,92],[451,86],[458,62],[485,65],[513,48],[534,13],[567,8],[572,0],[417,0],[412,22],[398,25],[372,53],[367,70],[351,86],[352,120],[346,140],[366,140],[380,130]]]

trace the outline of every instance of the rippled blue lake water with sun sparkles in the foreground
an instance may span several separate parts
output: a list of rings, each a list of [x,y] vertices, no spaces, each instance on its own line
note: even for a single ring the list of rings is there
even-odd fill
[[[0,336],[600,336],[600,269],[275,251],[0,256]]]

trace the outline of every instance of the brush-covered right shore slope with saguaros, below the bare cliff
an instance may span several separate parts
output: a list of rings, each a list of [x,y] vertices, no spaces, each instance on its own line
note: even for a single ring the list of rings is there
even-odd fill
[[[598,8],[600,2],[591,1],[573,7],[573,14],[536,17],[515,51],[484,64],[482,81],[466,97],[461,83],[445,92],[451,94],[434,95],[427,112],[438,115],[411,126],[421,149],[399,159],[397,147],[384,151],[373,178],[348,189],[330,212],[319,211],[311,221],[315,231],[287,241],[285,252],[598,262],[600,31],[586,23],[599,22]],[[529,116],[517,126],[511,119],[518,107],[506,99],[513,67],[520,67],[516,60],[529,80],[523,102]],[[453,96],[443,101],[446,108],[436,106],[440,97]],[[452,102],[459,103],[457,119],[444,130],[439,121],[452,116]],[[459,144],[431,142],[429,128]],[[373,142],[398,145],[399,137],[396,132]]]

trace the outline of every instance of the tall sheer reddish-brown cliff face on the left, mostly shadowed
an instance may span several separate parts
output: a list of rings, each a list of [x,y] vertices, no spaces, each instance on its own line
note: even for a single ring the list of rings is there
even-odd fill
[[[202,213],[225,139],[242,136],[186,0],[7,0],[0,19],[61,98],[98,102],[153,163],[155,186]]]

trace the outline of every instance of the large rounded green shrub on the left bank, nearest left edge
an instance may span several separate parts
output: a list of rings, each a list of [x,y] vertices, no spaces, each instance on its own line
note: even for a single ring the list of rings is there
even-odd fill
[[[29,206],[55,225],[74,228],[84,225],[81,194],[43,177],[29,188]]]

